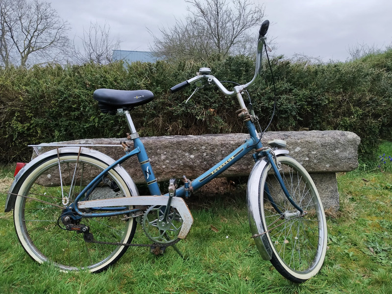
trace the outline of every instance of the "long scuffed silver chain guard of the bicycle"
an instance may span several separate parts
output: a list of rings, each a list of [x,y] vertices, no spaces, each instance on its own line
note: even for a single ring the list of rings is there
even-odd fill
[[[162,205],[168,204],[168,196],[132,196],[132,197],[121,197],[121,198],[108,198],[108,199],[97,199],[88,201],[79,201],[77,203],[78,209],[83,208],[97,208],[97,207],[113,207],[113,206],[128,206],[128,205]],[[193,224],[193,217],[184,199],[179,197],[172,197],[171,206],[176,208],[180,213],[183,220],[181,230],[178,234],[178,238],[184,239]]]

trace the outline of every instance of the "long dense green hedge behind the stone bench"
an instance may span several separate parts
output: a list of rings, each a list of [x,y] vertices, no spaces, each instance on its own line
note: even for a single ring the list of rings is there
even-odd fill
[[[273,58],[271,63],[277,108],[270,130],[352,131],[361,137],[359,151],[363,156],[377,150],[379,139],[391,140],[392,50],[345,63],[312,65],[283,57]],[[254,74],[254,60],[245,56],[208,64],[184,60],[2,69],[0,162],[28,161],[28,144],[124,137],[128,131],[125,120],[100,113],[92,99],[98,88],[148,89],[154,93],[153,101],[131,111],[141,136],[245,132],[235,115],[236,99],[223,96],[216,87],[204,87],[187,104],[184,101],[193,87],[170,93],[173,85],[205,66],[211,67],[218,79],[238,83],[249,81]],[[274,99],[266,64],[249,94],[264,129]]]

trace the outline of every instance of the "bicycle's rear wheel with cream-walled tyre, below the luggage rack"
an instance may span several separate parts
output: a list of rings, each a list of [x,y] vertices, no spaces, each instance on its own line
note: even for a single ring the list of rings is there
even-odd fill
[[[14,223],[23,248],[34,260],[52,263],[61,270],[99,272],[124,254],[127,246],[85,242],[85,234],[65,229],[60,219],[64,217],[64,205],[71,204],[80,191],[107,167],[103,161],[88,155],[64,153],[49,156],[25,172],[21,184],[13,191],[18,194]],[[110,170],[88,199],[130,196],[123,178],[115,170]],[[70,217],[73,225],[87,226],[94,239],[103,242],[130,243],[136,230],[136,221],[126,215]]]

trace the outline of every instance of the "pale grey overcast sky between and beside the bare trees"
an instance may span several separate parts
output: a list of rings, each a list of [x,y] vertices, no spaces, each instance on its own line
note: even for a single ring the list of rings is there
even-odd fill
[[[90,22],[110,25],[121,49],[148,51],[159,27],[187,15],[184,0],[49,0],[72,31],[83,36]],[[392,45],[392,0],[254,0],[264,5],[275,38],[275,54],[295,53],[345,61],[357,44],[384,49]],[[255,29],[257,31],[257,29]]]

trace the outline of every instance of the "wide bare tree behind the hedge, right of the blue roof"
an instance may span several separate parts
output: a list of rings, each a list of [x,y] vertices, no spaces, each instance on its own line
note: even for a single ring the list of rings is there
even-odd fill
[[[249,29],[260,25],[262,6],[249,0],[187,0],[185,22],[161,28],[153,35],[152,51],[158,57],[206,59],[212,54],[248,54],[254,34]]]

